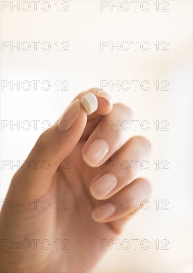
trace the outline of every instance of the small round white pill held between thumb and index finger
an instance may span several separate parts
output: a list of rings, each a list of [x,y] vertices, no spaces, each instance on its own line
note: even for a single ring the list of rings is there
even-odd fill
[[[93,93],[88,93],[81,98],[81,104],[87,111],[87,115],[91,115],[98,108],[98,101]]]

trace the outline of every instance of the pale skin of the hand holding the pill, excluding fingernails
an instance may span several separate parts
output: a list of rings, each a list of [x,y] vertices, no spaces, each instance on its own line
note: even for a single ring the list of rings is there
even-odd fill
[[[98,90],[92,88],[77,98],[81,100],[88,92],[97,96]],[[135,179],[138,168],[110,168],[104,161],[96,162],[93,167],[83,159],[86,149],[96,139],[108,143],[104,156],[107,162],[143,160],[150,152],[150,143],[140,136],[130,138],[119,148],[129,131],[110,128],[110,121],[115,124],[117,120],[130,120],[131,111],[123,104],[111,105],[102,97],[97,96],[97,100],[98,109],[89,116],[80,104],[79,116],[69,130],[62,133],[55,124],[45,131],[27,157],[28,162],[33,162],[32,166],[36,162],[36,168],[20,168],[12,178],[0,214],[1,240],[6,240],[3,249],[1,247],[1,272],[91,272],[108,249],[108,246],[101,249],[101,240],[116,239],[138,208],[132,202],[128,209],[113,204],[149,198],[149,182]],[[41,167],[43,160],[50,162],[48,170]],[[106,173],[117,179],[109,193],[100,184],[97,188],[93,186],[97,178]],[[20,209],[10,206],[18,200]],[[31,202],[29,209],[23,209],[23,200]],[[36,207],[33,200],[37,200]],[[40,205],[44,200],[51,204],[49,209]],[[47,207],[47,203],[44,205]],[[15,246],[11,249],[11,240],[22,244],[24,239],[30,241],[29,249],[25,249],[25,243],[19,250]],[[45,239],[50,242],[49,249],[41,247]],[[36,248],[34,240],[38,240]]]

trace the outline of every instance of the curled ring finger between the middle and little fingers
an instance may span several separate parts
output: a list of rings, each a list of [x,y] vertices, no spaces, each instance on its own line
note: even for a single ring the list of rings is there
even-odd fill
[[[98,200],[107,199],[128,183],[140,171],[140,163],[147,160],[150,143],[142,136],[130,138],[110,160],[101,165],[101,171],[90,184],[90,191]]]

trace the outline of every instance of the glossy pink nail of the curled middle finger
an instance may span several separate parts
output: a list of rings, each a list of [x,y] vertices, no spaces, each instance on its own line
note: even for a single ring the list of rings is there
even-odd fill
[[[96,139],[83,153],[83,158],[91,167],[97,166],[109,150],[108,144],[101,138]]]

